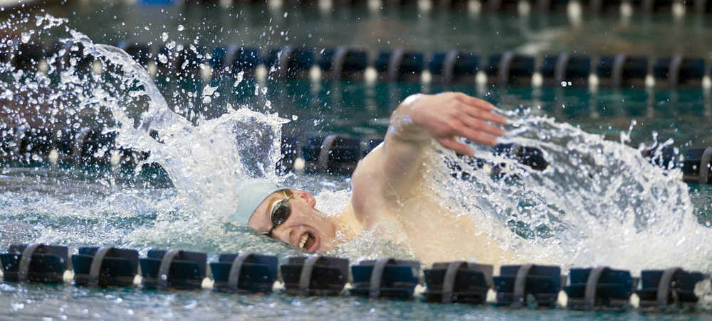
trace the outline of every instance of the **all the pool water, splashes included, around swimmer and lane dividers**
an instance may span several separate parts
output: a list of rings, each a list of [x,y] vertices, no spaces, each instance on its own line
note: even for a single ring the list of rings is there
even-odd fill
[[[274,10],[259,5],[221,9],[211,6],[143,7],[106,2],[91,6],[48,7],[45,12],[32,10],[33,14],[27,15],[28,23],[18,22],[25,16],[8,17],[14,22],[4,25],[4,31],[21,33],[30,29],[36,31],[32,36],[35,38],[44,37],[48,41],[59,37],[73,38],[84,41],[86,46],[92,48],[92,42],[117,44],[129,41],[155,45],[164,42],[162,33],[167,32],[169,38],[177,42],[197,41],[206,46],[234,43],[277,48],[304,43],[319,48],[337,45],[365,48],[402,46],[426,52],[458,48],[483,54],[503,50],[523,53],[531,53],[530,50],[570,50],[706,56],[708,49],[704,43],[706,37],[712,34],[708,32],[711,26],[707,19],[691,17],[678,21],[666,15],[634,17],[631,22],[622,21],[617,16],[601,16],[585,19],[577,25],[559,13],[520,18],[510,14],[472,16],[464,11],[430,11],[424,14],[414,9],[375,13],[366,9],[339,9],[320,13],[315,8]],[[59,26],[48,26],[48,21],[35,25],[34,14],[43,16],[45,13],[66,16],[69,20],[59,23]],[[3,14],[9,16],[11,13]],[[144,23],[149,20],[147,17],[152,18],[152,22]],[[671,21],[674,24],[670,28],[667,25]],[[88,38],[78,33],[68,34],[65,26],[84,33]],[[403,30],[414,32],[404,37]],[[600,35],[604,33],[607,36],[602,38]],[[669,41],[651,42],[651,38]],[[486,48],[481,43],[486,43]],[[108,76],[92,76],[96,78],[69,72],[63,78],[65,87],[58,88],[41,81],[34,82],[42,80],[41,75],[25,75],[27,77],[23,78],[21,75],[5,74],[0,84],[2,89],[13,89],[16,97],[32,96],[37,93],[33,86],[38,86],[41,88],[38,92],[46,90],[66,98],[61,101],[67,104],[66,109],[48,107],[48,100],[39,103],[31,99],[23,101],[30,107],[57,111],[58,119],[62,119],[62,114],[69,114],[67,119],[70,121],[56,121],[61,129],[73,124],[106,127],[117,126],[120,121],[127,124],[130,117],[121,117],[135,116],[132,108],[143,110],[144,102],[154,103],[161,108],[146,111],[138,118],[147,124],[150,119],[150,125],[159,129],[165,143],[156,143],[135,126],[120,126],[117,131],[120,132],[120,143],[150,150],[154,160],[167,170],[171,181],[166,182],[168,178],[155,173],[136,175],[132,170],[93,165],[52,165],[44,159],[39,162],[2,163],[0,212],[4,215],[0,218],[0,249],[14,243],[43,241],[67,244],[73,248],[115,244],[139,249],[142,254],[148,249],[169,247],[206,251],[211,254],[209,261],[213,261],[216,254],[237,251],[276,254],[281,259],[300,255],[298,251],[276,241],[268,241],[244,227],[224,224],[216,214],[229,211],[233,206],[229,200],[234,195],[229,192],[229,187],[236,178],[244,175],[276,176],[271,164],[276,160],[275,153],[278,151],[278,146],[273,143],[278,140],[273,138],[279,134],[308,136],[333,132],[362,137],[382,136],[389,114],[404,97],[417,92],[456,90],[487,99],[510,111],[512,117],[521,117],[523,120],[510,128],[516,134],[506,139],[532,144],[541,141],[535,146],[549,153],[548,160],[556,168],[562,168],[562,173],[530,173],[515,168],[513,173],[520,180],[513,182],[493,180],[473,172],[477,180],[466,182],[454,180],[449,175],[439,175],[449,174],[442,165],[434,167],[433,172],[437,175],[430,179],[452,188],[444,188],[441,193],[445,199],[452,198],[459,202],[461,207],[457,208],[466,212],[481,208],[479,205],[484,204],[491,209],[487,215],[488,222],[511,229],[515,228],[508,224],[523,226],[527,230],[525,232],[531,232],[527,241],[550,246],[546,248],[550,249],[550,253],[533,257],[533,260],[542,263],[557,263],[565,268],[609,263],[631,268],[634,274],[642,268],[672,263],[712,271],[709,263],[712,250],[708,246],[711,243],[706,236],[712,212],[709,208],[712,200],[710,187],[681,183],[674,178],[679,171],[654,168],[637,156],[634,149],[611,143],[627,138],[625,143],[634,148],[640,144],[668,143],[681,151],[707,146],[712,139],[708,131],[712,102],[709,93],[701,89],[599,89],[590,92],[576,87],[482,89],[470,85],[439,86],[407,82],[367,85],[363,82],[330,80],[318,84],[308,80],[271,80],[265,93],[259,91],[255,94],[256,84],[251,80],[244,80],[236,87],[236,80],[230,77],[223,83],[205,84],[182,82],[176,77],[179,75],[171,75],[172,79],[167,81],[162,77],[150,80],[157,86],[157,92],[151,92],[147,78],[142,78],[140,73],[132,74],[128,61],[120,56],[111,56],[113,52],[110,48],[96,46],[96,50],[95,54],[101,56],[106,65],[118,65],[122,71],[109,72]],[[128,85],[111,89],[110,81],[113,80],[124,81]],[[209,103],[204,103],[201,97],[206,85],[217,86],[216,92],[220,93],[219,96],[212,94]],[[147,100],[134,100],[136,97]],[[4,99],[7,100],[7,96]],[[84,102],[91,103],[80,104]],[[228,103],[232,107],[228,107]],[[67,109],[75,107],[73,104],[90,112],[72,114],[74,111]],[[239,105],[247,106],[251,111],[238,109]],[[128,108],[123,109],[124,106]],[[189,119],[186,121],[173,116],[170,111],[177,111]],[[24,119],[24,115],[13,113],[4,116],[0,125],[8,127],[17,126]],[[282,124],[284,121],[288,122]],[[253,124],[258,126],[253,127]],[[241,135],[241,129],[258,131],[266,138],[238,140],[246,147],[234,146],[235,136]],[[669,142],[669,139],[672,141]],[[250,153],[253,146],[263,148],[262,151],[267,151],[268,155],[234,157]],[[478,148],[477,152],[493,161],[507,161],[493,155],[487,148]],[[460,165],[473,169],[466,167],[466,163]],[[616,167],[609,170],[609,165]],[[239,170],[232,170],[234,168]],[[589,174],[595,174],[596,179],[590,179]],[[350,182],[344,176],[290,173],[276,179],[314,192],[318,204],[326,212],[338,210],[350,194]],[[216,187],[205,182],[214,183]],[[535,184],[555,187],[547,189]],[[451,192],[463,187],[467,191],[464,195]],[[592,190],[600,191],[600,195]],[[615,193],[606,195],[607,191]],[[494,197],[497,195],[504,195],[503,198],[511,196],[511,199],[498,200]],[[611,197],[615,195],[629,197]],[[571,204],[568,200],[580,204]],[[591,211],[586,214],[600,217],[577,214],[584,210]],[[625,212],[627,210],[631,212]],[[551,218],[557,213],[560,217]],[[586,224],[578,224],[577,220]],[[541,229],[547,229],[547,232],[535,233]],[[498,237],[507,239],[511,236]],[[526,248],[525,241],[518,239],[518,242],[515,244]],[[558,246],[557,243],[563,245]],[[351,263],[384,256],[412,257],[404,252],[387,241],[365,236],[346,244],[335,255],[347,256]],[[561,253],[571,256],[561,257]],[[685,259],[681,261],[681,257]],[[411,302],[370,301],[352,297],[299,298],[282,293],[226,295],[210,290],[88,290],[72,285],[14,283],[0,283],[0,296],[4,298],[0,300],[0,309],[4,311],[0,312],[0,318],[12,320],[34,320],[38,317],[61,320],[211,319],[226,316],[311,320],[327,313],[335,319],[368,317],[384,320],[442,317],[508,320],[595,317],[629,320],[651,317],[632,311],[582,313],[439,305],[422,303],[420,298]],[[705,298],[703,302],[708,303],[709,300]],[[341,313],[335,314],[334,311]],[[706,315],[684,317],[703,318]]]

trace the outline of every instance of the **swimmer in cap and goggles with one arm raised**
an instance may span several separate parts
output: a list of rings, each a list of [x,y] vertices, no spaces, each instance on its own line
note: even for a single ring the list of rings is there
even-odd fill
[[[511,260],[470,217],[456,216],[429,196],[422,175],[434,142],[467,156],[473,151],[458,137],[495,145],[496,137],[505,134],[496,125],[506,119],[494,109],[462,93],[412,95],[393,112],[384,142],[358,163],[352,197],[340,213],[328,216],[316,210],[309,192],[258,182],[241,188],[244,196],[233,220],[312,253],[375,230],[426,263]]]

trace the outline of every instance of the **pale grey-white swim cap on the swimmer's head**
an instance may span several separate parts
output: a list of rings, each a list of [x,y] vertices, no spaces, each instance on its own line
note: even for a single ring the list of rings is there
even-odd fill
[[[231,219],[233,222],[247,225],[250,217],[257,210],[263,200],[273,192],[287,190],[287,187],[272,183],[268,180],[251,180],[240,183],[237,187],[239,200],[237,209]]]

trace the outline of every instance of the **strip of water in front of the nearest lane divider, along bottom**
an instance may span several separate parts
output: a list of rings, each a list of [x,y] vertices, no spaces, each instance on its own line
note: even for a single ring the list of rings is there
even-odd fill
[[[234,320],[258,318],[313,320],[706,320],[706,315],[645,315],[637,312],[572,312],[567,310],[509,310],[470,305],[443,305],[415,301],[367,300],[353,297],[300,298],[284,294],[229,295],[207,290],[157,293],[145,290],[84,290],[73,286],[38,287],[3,285],[1,307],[7,320],[122,319]],[[21,295],[18,295],[21,293]],[[32,298],[27,300],[26,298]]]

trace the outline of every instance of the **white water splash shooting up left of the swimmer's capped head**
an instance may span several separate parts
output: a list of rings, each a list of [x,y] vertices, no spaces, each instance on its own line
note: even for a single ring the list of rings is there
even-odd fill
[[[46,17],[37,20],[38,26],[56,22]],[[69,37],[62,40],[63,48],[48,58],[46,72],[24,72],[11,63],[11,58],[2,69],[20,73],[26,81],[14,77],[1,82],[0,87],[14,97],[31,97],[27,99],[31,107],[49,109],[53,116],[61,114],[61,121],[56,120],[59,116],[41,119],[45,124],[60,124],[56,126],[59,128],[62,123],[70,127],[103,124],[104,133],[118,134],[117,148],[150,151],[150,156],[137,164],[136,173],[142,165],[153,162],[166,170],[176,187],[173,203],[180,205],[179,210],[174,206],[158,210],[155,222],[134,229],[117,243],[235,249],[234,245],[241,243],[239,239],[250,239],[245,236],[250,233],[226,222],[239,203],[236,184],[254,178],[278,180],[275,164],[280,157],[279,137],[285,120],[277,114],[228,105],[222,116],[196,119],[194,124],[169,107],[150,75],[130,55],[110,45],[94,44],[78,31],[68,33]],[[100,62],[103,72],[87,74],[75,56]],[[40,97],[36,97],[37,92],[41,92]],[[213,94],[214,88],[206,87],[205,92]],[[60,104],[54,103],[56,99]],[[90,120],[82,121],[87,114]],[[11,116],[14,121],[27,120],[19,112]],[[236,241],[231,235],[241,237]],[[42,238],[53,236],[56,234],[46,231]],[[66,241],[86,244],[96,240],[84,235],[83,239]]]

